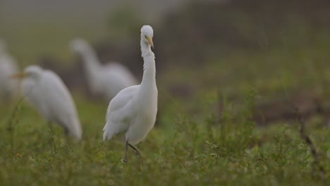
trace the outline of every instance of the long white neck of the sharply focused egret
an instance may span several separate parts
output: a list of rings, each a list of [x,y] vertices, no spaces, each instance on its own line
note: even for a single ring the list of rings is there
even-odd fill
[[[144,61],[141,87],[156,86],[156,63],[154,61],[154,53],[151,50],[150,44],[143,42],[142,39],[141,52]]]

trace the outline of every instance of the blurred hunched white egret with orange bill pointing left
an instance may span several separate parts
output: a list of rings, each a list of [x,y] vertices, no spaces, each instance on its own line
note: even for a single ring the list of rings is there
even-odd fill
[[[68,135],[82,138],[82,129],[75,104],[60,77],[39,66],[28,66],[23,73],[12,75],[23,79],[23,96],[50,123],[61,125]]]

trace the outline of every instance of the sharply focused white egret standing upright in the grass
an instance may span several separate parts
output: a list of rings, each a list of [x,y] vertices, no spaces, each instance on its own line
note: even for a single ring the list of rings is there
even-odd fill
[[[141,28],[141,51],[144,60],[141,84],[121,90],[110,101],[106,113],[103,140],[111,140],[119,132],[126,132],[125,161],[127,161],[128,146],[140,154],[140,151],[133,145],[147,137],[156,120],[158,91],[156,64],[154,53],[151,50],[151,46],[154,46],[153,36],[154,31],[149,25]]]

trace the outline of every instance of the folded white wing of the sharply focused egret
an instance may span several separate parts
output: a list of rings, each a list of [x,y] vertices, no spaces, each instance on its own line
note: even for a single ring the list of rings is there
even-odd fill
[[[106,125],[104,126],[103,140],[111,140],[111,138],[128,129],[132,114],[130,111],[130,102],[138,91],[140,85],[127,87],[118,92],[116,97],[110,101],[106,111]]]

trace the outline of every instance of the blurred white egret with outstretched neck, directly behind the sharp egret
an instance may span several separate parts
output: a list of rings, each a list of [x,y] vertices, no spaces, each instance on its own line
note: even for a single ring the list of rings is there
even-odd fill
[[[82,57],[92,94],[101,95],[106,101],[110,101],[122,89],[138,84],[130,70],[120,63],[102,65],[92,46],[84,39],[73,39],[70,46]]]

